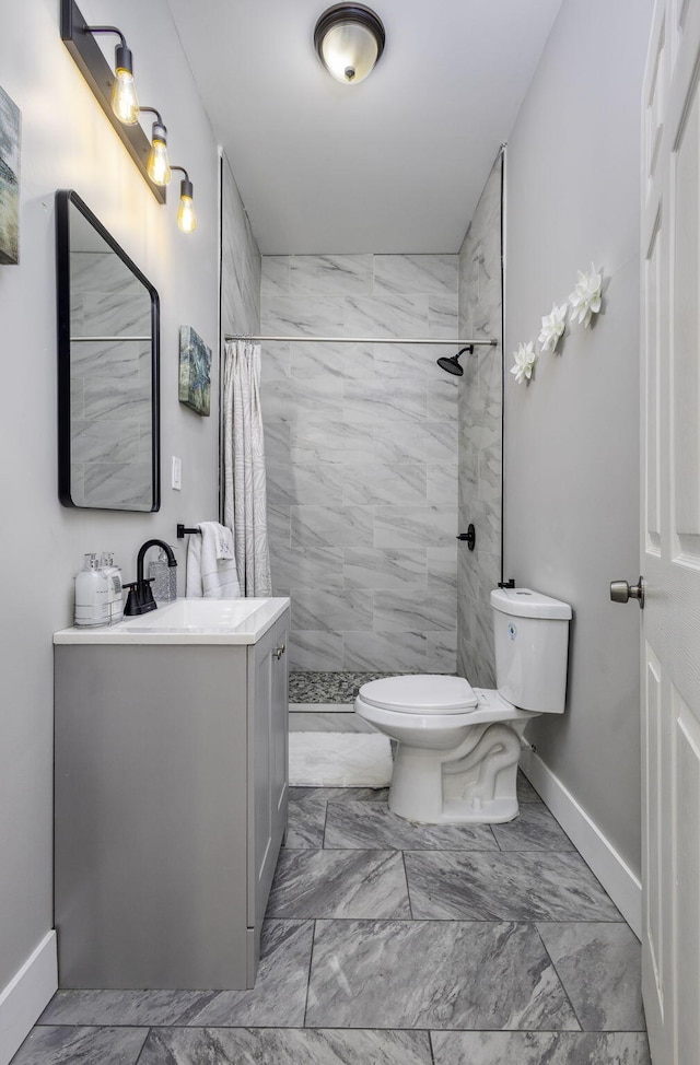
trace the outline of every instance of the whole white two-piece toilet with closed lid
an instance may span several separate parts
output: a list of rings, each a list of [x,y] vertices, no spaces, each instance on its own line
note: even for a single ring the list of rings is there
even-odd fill
[[[498,690],[462,677],[387,677],[363,684],[355,713],[398,740],[389,809],[411,821],[464,824],[517,815],[521,737],[562,714],[571,607],[528,588],[491,593]]]

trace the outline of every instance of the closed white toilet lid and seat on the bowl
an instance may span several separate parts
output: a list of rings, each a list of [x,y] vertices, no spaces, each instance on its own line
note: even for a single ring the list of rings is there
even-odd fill
[[[408,714],[457,714],[477,705],[474,689],[464,677],[441,674],[371,680],[360,689],[360,698],[371,706]]]

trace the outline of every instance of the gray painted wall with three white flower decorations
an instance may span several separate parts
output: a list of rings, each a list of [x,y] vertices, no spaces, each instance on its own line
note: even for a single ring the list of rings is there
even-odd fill
[[[509,140],[506,366],[591,261],[595,326],[528,386],[506,373],[505,566],[573,606],[569,698],[530,737],[640,867],[639,615],[608,582],[639,567],[640,94],[651,0],[564,0]]]

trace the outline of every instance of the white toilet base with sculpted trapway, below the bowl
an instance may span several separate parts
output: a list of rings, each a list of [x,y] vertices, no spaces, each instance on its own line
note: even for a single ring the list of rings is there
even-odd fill
[[[534,715],[528,715],[534,716]],[[527,719],[474,725],[456,750],[400,742],[389,809],[423,824],[497,824],[517,817],[517,763]]]

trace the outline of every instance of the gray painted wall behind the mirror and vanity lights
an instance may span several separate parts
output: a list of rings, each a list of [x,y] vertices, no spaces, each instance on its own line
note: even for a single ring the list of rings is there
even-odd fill
[[[114,4],[81,0],[92,23]],[[217,516],[218,425],[177,401],[178,330],[218,335],[217,144],[165,0],[122,0],[142,101],[168,125],[172,157],[195,183],[198,229],[176,225],[177,183],[160,206],[63,46],[56,0],[25,0],[0,35],[2,87],[22,110],[20,266],[0,267],[3,350],[11,360],[3,445],[0,643],[0,992],[51,927],[51,633],[72,621],[72,582],[85,551],[113,550],[131,578],[139,545],[175,540],[177,522]],[[113,45],[106,43],[114,56]],[[158,514],[67,510],[56,467],[54,194],[74,188],[161,296],[163,505]],[[253,288],[256,285],[253,281]],[[218,379],[212,382],[212,410]],[[170,457],[183,490],[170,488]],[[184,563],[183,541],[178,559]],[[180,565],[180,588],[184,588]]]

